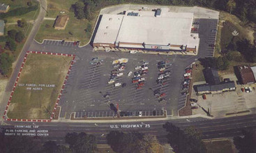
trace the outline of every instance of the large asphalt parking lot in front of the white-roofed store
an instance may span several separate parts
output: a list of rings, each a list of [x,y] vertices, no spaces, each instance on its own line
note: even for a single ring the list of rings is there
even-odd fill
[[[75,112],[98,112],[99,110],[111,111],[110,104],[119,105],[120,110],[153,111],[167,110],[167,115],[177,115],[186,101],[186,95],[181,95],[184,69],[195,59],[213,56],[213,47],[209,47],[215,40],[217,19],[199,19],[199,53],[197,56],[183,55],[154,55],[154,54],[128,54],[126,52],[93,51],[92,47],[75,47],[73,42],[59,40],[45,40],[42,45],[33,43],[33,51],[51,51],[65,54],[75,54],[75,63],[68,76],[65,89],[62,92],[59,105],[61,106],[61,118],[70,118]],[[100,65],[91,65],[91,59],[98,57],[103,60]],[[128,58],[123,76],[116,78],[116,83],[126,83],[126,87],[114,87],[108,84],[110,79],[112,62],[119,58]],[[141,61],[148,61],[149,72],[144,76],[144,86],[137,88],[137,83],[132,83],[132,77],[128,72],[135,72],[134,67]],[[170,61],[172,65],[167,67],[170,77],[164,85],[156,82],[159,71],[158,62]],[[134,74],[133,74],[134,75]],[[154,96],[154,90],[160,88],[160,94],[165,93],[164,100],[158,102]],[[104,95],[110,95],[104,97]],[[90,113],[93,114],[93,113]],[[95,113],[94,113],[95,114]],[[143,114],[144,115],[144,114]],[[145,114],[146,115],[146,114]],[[100,115],[96,115],[100,116]]]

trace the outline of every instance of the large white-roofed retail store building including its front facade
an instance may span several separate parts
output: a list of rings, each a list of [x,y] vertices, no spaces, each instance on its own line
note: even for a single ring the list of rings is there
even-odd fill
[[[198,33],[191,33],[192,27],[193,13],[172,13],[168,8],[104,14],[93,47],[195,53],[199,37]]]

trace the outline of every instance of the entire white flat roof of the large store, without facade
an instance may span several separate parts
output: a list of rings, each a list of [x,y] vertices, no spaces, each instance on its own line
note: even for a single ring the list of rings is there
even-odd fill
[[[133,12],[139,12],[140,16],[103,15],[93,42],[144,42],[147,45],[170,43],[194,47],[199,43],[198,36],[196,40],[190,36],[193,13],[170,13],[165,10],[162,17],[154,17],[153,11]]]

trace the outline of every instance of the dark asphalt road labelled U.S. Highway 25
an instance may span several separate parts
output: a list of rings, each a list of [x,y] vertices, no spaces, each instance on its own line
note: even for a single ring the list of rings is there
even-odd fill
[[[220,118],[209,120],[206,118],[183,118],[183,119],[163,119],[160,121],[143,121],[137,122],[6,122],[8,125],[1,125],[2,129],[36,129],[34,136],[36,141],[45,142],[45,140],[54,140],[57,143],[65,143],[64,137],[67,133],[85,132],[86,134],[93,134],[98,140],[98,144],[106,144],[105,136],[112,130],[119,130],[123,132],[140,131],[145,134],[156,135],[161,143],[167,143],[165,137],[167,132],[163,129],[165,122],[172,122],[181,129],[193,126],[202,132],[204,139],[210,138],[230,138],[239,136],[242,129],[255,129],[256,114],[236,116],[231,118]],[[31,125],[30,127],[23,127],[24,125]],[[43,131],[43,132],[41,132]],[[6,131],[6,133],[12,133]],[[13,132],[16,133],[17,132]],[[20,132],[22,134],[29,132]],[[33,133],[33,132],[32,132]],[[43,134],[41,134],[43,133]]]

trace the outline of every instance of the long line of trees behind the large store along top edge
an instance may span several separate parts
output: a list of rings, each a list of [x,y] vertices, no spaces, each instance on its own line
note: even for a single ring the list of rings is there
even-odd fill
[[[202,6],[224,10],[243,22],[256,22],[255,0],[79,0],[71,6],[77,19],[93,19],[93,13],[105,6],[121,3],[158,4],[166,6]]]

